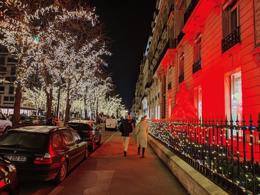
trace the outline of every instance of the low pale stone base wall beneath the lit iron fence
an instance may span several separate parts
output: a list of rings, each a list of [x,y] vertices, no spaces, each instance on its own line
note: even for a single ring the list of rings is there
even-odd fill
[[[147,135],[148,144],[159,158],[170,168],[191,195],[228,195],[225,190],[183,161],[157,140]]]

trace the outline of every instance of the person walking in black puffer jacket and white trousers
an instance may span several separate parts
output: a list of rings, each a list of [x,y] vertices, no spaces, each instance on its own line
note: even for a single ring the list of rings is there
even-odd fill
[[[125,120],[122,121],[119,131],[122,133],[122,142],[124,148],[124,156],[126,156],[128,144],[130,140],[130,133],[133,132],[133,124],[129,120],[129,115],[125,115]]]

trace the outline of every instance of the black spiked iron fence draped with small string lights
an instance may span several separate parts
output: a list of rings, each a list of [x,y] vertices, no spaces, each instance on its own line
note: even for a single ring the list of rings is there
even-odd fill
[[[260,193],[258,126],[252,116],[220,121],[148,120],[150,135],[231,194]]]

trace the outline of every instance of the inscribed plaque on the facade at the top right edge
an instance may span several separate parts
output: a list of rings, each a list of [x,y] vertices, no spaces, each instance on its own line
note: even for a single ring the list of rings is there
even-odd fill
[[[260,0],[254,1],[255,47],[260,45]]]

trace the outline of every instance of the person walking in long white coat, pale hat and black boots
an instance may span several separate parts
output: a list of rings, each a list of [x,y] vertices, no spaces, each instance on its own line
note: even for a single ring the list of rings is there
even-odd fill
[[[146,115],[141,118],[141,121],[138,122],[137,126],[135,127],[135,133],[137,135],[137,147],[138,147],[138,155],[140,155],[140,149],[142,147],[142,158],[144,158],[144,151],[147,148],[147,134],[149,133],[150,129],[145,122]]]

